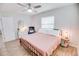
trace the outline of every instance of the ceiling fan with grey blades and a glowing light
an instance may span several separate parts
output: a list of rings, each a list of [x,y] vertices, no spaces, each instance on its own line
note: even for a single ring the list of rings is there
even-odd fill
[[[37,12],[35,9],[41,8],[41,5],[36,5],[36,6],[32,6],[31,3],[26,3],[26,4],[22,4],[22,3],[17,3],[19,6],[25,7],[27,12]]]

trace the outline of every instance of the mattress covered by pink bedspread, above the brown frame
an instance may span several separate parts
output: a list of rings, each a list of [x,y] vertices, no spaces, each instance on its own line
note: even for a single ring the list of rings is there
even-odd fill
[[[59,37],[43,33],[22,35],[21,38],[33,45],[42,55],[51,55],[61,42]]]

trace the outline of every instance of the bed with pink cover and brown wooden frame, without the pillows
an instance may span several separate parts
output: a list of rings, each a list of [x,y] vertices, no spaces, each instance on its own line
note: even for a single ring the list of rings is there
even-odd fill
[[[29,48],[38,56],[50,56],[60,42],[61,39],[57,36],[38,32],[20,37],[21,46],[25,49]]]

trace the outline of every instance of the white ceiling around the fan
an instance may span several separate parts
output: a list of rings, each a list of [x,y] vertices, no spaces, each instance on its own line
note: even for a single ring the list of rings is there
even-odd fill
[[[41,5],[41,8],[35,9],[37,12],[28,13],[25,7],[19,6],[17,3],[0,3],[1,14],[27,14],[35,15],[51,9],[71,5],[72,3],[32,3],[32,6]]]

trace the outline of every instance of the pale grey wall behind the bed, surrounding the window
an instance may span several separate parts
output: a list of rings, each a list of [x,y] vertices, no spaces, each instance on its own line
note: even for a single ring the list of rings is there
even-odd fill
[[[70,40],[77,44],[79,42],[77,35],[78,12],[78,4],[57,8],[32,16],[32,25],[38,30],[41,25],[41,18],[53,15],[55,17],[55,28],[64,28],[68,31]]]

